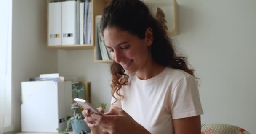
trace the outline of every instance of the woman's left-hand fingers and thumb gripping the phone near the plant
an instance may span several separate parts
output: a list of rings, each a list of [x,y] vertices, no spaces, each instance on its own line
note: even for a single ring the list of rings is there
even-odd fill
[[[99,107],[97,108],[101,113],[104,113],[104,108]],[[98,127],[98,124],[95,122],[95,119],[91,117],[91,111],[85,109],[82,111],[83,116],[85,117],[85,123],[88,125],[89,128],[94,129]]]

